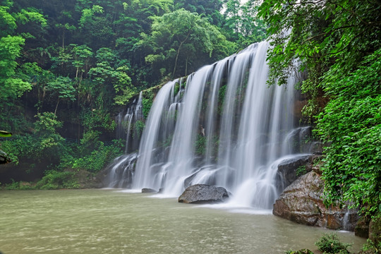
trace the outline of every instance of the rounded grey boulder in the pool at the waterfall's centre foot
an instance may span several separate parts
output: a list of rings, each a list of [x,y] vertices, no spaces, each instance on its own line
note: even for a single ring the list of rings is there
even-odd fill
[[[206,184],[196,184],[186,188],[183,194],[179,197],[179,202],[223,202],[226,198],[229,198],[229,194],[225,188],[208,186]]]

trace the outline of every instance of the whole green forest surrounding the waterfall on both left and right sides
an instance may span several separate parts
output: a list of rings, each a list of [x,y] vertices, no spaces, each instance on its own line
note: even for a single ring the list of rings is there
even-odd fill
[[[8,188],[42,176],[37,188],[80,187],[73,175],[122,153],[114,116],[136,93],[268,37],[269,85],[307,74],[327,205],[380,214],[379,0],[3,0],[0,11]]]

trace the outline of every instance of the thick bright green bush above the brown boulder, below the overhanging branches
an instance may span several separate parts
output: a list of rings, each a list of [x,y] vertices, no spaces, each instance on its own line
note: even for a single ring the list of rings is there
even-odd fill
[[[381,49],[352,73],[339,66],[325,75],[331,100],[319,115],[317,133],[326,143],[327,204],[348,200],[365,214],[379,214],[381,179]]]

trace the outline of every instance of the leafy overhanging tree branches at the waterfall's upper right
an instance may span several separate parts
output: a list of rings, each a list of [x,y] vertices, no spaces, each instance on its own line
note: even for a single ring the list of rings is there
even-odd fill
[[[304,110],[316,114],[324,102],[322,75],[335,61],[351,71],[364,56],[380,47],[380,4],[377,1],[276,1],[265,0],[260,16],[270,25],[273,48],[269,52],[270,83],[296,69],[308,71],[301,90],[310,96]],[[293,59],[298,59],[297,62]]]

